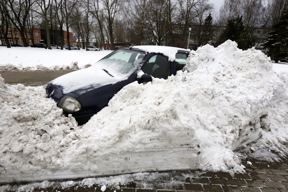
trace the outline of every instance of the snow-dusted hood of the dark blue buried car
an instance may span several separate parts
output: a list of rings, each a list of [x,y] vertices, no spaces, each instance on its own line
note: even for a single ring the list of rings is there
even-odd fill
[[[63,94],[72,92],[73,94],[81,95],[105,85],[115,84],[129,77],[127,75],[112,74],[113,76],[109,75],[102,68],[92,65],[88,68],[60,76],[50,81],[50,84],[56,85],[58,89],[61,89]]]

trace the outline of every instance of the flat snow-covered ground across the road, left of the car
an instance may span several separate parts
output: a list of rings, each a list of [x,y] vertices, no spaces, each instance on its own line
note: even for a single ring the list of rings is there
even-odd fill
[[[61,70],[77,69],[71,63],[77,63],[79,68],[90,66],[106,55],[109,50],[58,50],[33,47],[0,46],[1,70]]]

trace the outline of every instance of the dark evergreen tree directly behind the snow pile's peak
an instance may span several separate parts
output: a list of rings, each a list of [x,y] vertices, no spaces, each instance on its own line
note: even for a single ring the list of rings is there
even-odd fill
[[[242,50],[247,50],[255,44],[255,38],[245,29],[242,16],[239,15],[235,19],[228,20],[227,26],[221,34],[219,44],[228,39],[236,41],[238,48]]]

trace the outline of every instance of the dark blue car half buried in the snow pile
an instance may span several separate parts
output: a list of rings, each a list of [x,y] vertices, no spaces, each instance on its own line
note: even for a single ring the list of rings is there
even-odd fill
[[[154,48],[157,53],[146,50],[147,47]],[[167,52],[176,54],[176,59],[169,61],[161,54]],[[151,76],[167,79],[170,75],[176,75],[177,70],[185,66],[183,59],[188,55],[189,50],[166,46],[120,48],[88,68],[50,81],[46,94],[55,100],[64,114],[72,114],[78,124],[84,124],[106,107],[125,85],[134,81],[152,81]],[[137,73],[140,69],[144,74],[139,78]]]

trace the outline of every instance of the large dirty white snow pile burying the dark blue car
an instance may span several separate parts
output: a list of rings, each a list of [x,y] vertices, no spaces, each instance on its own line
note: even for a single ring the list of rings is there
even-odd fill
[[[125,86],[76,127],[42,87],[2,82],[0,180],[188,168],[242,172],[233,153],[238,146],[260,138],[261,145],[288,152],[287,84],[287,74],[277,75],[259,50],[242,51],[232,41],[206,45],[190,53],[176,76]]]

